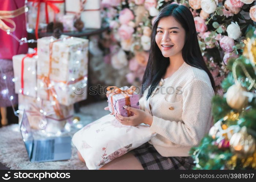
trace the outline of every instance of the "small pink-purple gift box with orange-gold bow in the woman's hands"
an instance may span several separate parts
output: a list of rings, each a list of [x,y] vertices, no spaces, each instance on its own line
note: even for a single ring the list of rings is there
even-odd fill
[[[135,87],[108,87],[107,97],[109,111],[116,112],[122,116],[132,116],[133,112],[126,110],[123,106],[130,106],[139,109],[139,95],[135,93]]]

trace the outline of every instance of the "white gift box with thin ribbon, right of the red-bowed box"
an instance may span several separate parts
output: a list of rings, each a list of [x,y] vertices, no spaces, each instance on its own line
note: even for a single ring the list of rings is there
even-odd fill
[[[66,0],[66,13],[81,17],[85,28],[101,28],[100,0]]]

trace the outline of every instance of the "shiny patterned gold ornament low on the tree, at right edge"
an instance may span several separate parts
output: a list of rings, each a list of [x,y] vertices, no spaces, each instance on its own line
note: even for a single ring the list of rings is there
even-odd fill
[[[255,151],[255,139],[247,133],[245,126],[232,135],[229,143],[231,151],[236,153],[239,158],[247,157]]]

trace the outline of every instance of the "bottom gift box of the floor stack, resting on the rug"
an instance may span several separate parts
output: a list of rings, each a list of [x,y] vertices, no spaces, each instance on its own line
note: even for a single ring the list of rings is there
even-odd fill
[[[65,124],[72,122],[74,106],[60,105],[60,111],[57,112],[55,106],[56,103],[49,100],[19,94],[19,122],[25,109],[31,128],[44,129],[51,133],[63,131]]]

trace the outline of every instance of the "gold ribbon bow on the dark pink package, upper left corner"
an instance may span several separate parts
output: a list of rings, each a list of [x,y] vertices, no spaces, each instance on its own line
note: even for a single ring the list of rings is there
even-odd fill
[[[16,24],[13,20],[11,20],[11,18],[14,18],[25,13],[25,8],[26,6],[23,6],[13,11],[0,11],[0,29],[2,29],[5,32],[14,32],[16,29]],[[5,24],[3,20],[10,23],[13,26],[13,28]]]

